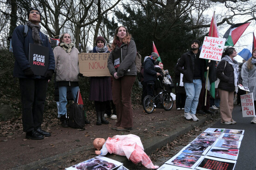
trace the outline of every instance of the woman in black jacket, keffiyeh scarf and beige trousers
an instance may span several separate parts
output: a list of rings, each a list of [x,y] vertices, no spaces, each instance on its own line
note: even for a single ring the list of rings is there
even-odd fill
[[[216,76],[220,79],[218,85],[220,94],[220,113],[222,124],[236,124],[232,118],[234,105],[234,91],[238,85],[238,62],[236,57],[237,52],[233,47],[224,50],[224,57],[218,63],[216,68]]]

